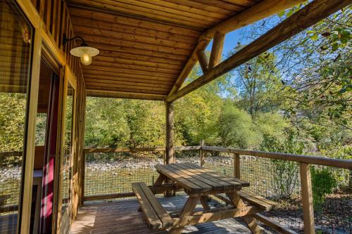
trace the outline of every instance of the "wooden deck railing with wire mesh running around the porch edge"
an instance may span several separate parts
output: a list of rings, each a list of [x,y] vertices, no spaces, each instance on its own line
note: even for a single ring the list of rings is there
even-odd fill
[[[132,197],[131,183],[153,184],[158,176],[154,166],[165,163],[165,148],[103,148],[85,152],[85,201]],[[266,212],[265,216],[298,233],[303,226],[322,233],[352,231],[352,160],[205,145],[175,147],[175,158],[176,162],[200,164],[249,181],[249,190],[280,204],[279,209]],[[318,201],[319,197],[313,200],[311,173],[313,190],[319,193],[320,187],[326,186],[334,190],[322,195],[324,202]]]

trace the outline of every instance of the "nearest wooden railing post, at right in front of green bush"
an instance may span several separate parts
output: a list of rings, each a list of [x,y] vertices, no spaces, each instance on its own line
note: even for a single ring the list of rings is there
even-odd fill
[[[312,180],[310,178],[310,165],[301,162],[299,164],[301,172],[301,194],[303,203],[303,225],[304,233],[315,233]]]

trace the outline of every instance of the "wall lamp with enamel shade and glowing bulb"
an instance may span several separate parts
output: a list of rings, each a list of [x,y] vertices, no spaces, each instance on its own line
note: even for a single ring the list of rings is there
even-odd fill
[[[99,54],[99,49],[88,46],[87,43],[85,43],[84,39],[82,37],[73,37],[71,39],[68,39],[66,37],[66,34],[63,34],[63,45],[65,46],[65,44],[68,41],[72,41],[74,39],[81,39],[82,40],[82,44],[80,46],[77,46],[75,48],[72,48],[70,50],[70,54],[72,54],[73,56],[76,57],[80,57],[81,58],[81,62],[84,65],[89,65],[92,63],[92,57],[93,56],[97,56]]]

